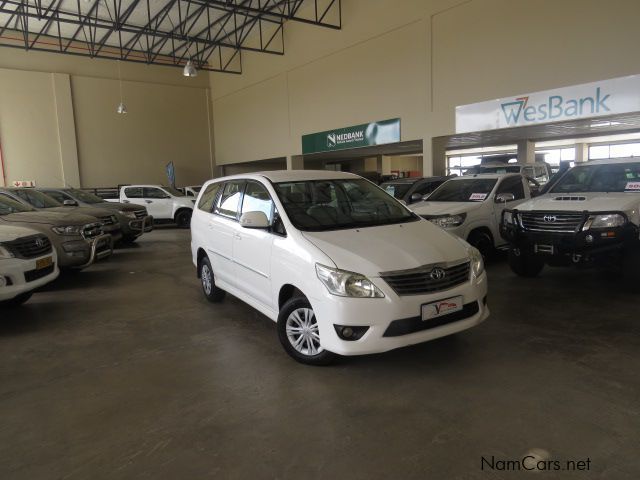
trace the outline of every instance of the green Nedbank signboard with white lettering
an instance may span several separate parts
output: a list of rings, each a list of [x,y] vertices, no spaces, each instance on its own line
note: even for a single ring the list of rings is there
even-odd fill
[[[400,119],[382,120],[302,136],[302,153],[332,152],[400,141]]]

